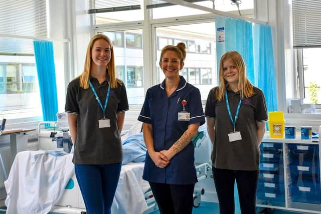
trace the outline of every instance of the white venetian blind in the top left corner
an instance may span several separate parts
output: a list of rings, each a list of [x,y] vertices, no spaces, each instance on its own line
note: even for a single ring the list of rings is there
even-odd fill
[[[1,0],[0,14],[0,34],[9,35],[0,37],[0,53],[32,54],[32,40],[21,38],[47,38],[46,0]]]

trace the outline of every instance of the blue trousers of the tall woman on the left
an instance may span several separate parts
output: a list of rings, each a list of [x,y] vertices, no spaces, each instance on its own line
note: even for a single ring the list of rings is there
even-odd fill
[[[75,164],[75,173],[87,214],[110,214],[121,170],[120,163]]]

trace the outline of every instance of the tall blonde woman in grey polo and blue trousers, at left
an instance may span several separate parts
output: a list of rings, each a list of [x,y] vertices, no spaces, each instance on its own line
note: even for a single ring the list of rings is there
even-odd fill
[[[110,213],[122,161],[120,132],[128,110],[105,35],[89,42],[84,72],[68,85],[65,111],[75,147],[73,163],[87,213]]]

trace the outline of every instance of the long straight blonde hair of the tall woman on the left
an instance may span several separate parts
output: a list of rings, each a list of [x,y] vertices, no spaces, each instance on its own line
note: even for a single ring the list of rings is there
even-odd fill
[[[110,45],[110,61],[107,64],[110,87],[117,88],[117,83],[122,84],[122,81],[116,78],[115,57],[114,57],[114,50],[112,47],[112,42],[107,36],[105,36],[103,34],[97,34],[93,38],[91,38],[91,40],[88,44],[88,48],[87,48],[87,52],[86,52],[86,60],[85,60],[85,65],[84,65],[84,71],[79,76],[81,88],[84,88],[84,89],[89,88],[89,77],[90,77],[91,62],[92,62],[91,50],[92,50],[92,47],[94,46],[94,43],[100,39],[105,40]]]

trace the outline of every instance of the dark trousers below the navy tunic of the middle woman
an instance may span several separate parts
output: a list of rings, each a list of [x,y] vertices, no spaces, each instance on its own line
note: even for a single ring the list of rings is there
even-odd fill
[[[166,184],[149,182],[161,214],[192,214],[195,184]]]

